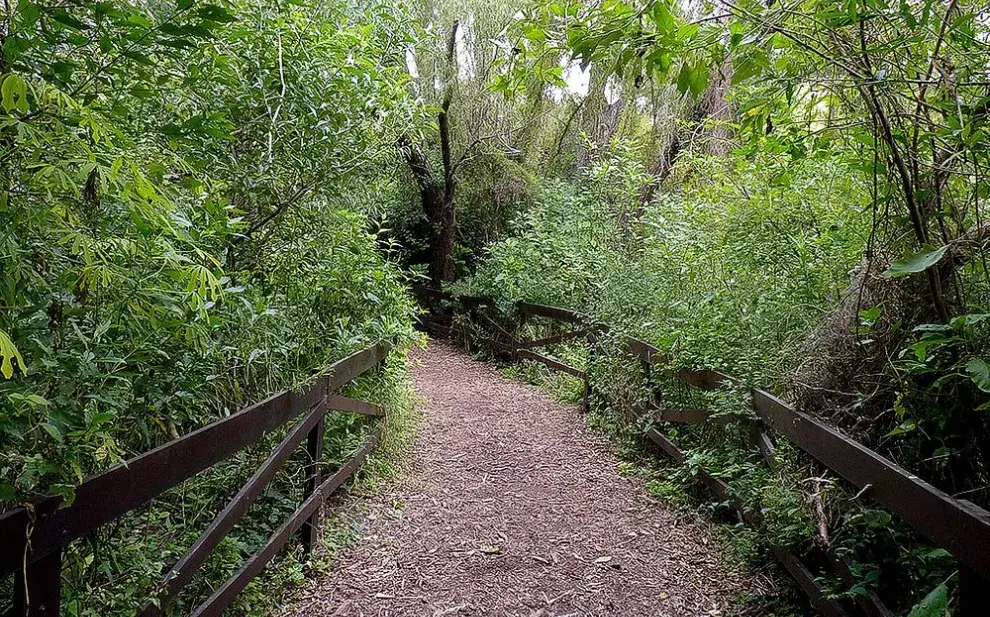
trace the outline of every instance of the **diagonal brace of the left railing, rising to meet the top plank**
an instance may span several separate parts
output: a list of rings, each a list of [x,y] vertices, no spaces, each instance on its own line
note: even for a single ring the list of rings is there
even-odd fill
[[[168,608],[203,562],[210,556],[213,549],[230,533],[237,522],[247,513],[248,508],[255,502],[261,492],[268,486],[285,461],[292,457],[293,452],[303,438],[319,427],[326,414],[327,400],[324,398],[306,416],[300,420],[288,435],[272,450],[271,455],[262,463],[254,475],[241,487],[224,509],[217,514],[210,526],[193,542],[182,559],[162,578],[162,592],[158,603],[149,604],[144,608],[141,617],[157,617]]]

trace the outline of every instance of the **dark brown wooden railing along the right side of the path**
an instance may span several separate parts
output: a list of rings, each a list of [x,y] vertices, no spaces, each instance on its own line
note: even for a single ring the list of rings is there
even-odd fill
[[[569,366],[534,348],[565,340],[584,341],[588,357],[601,353],[599,345],[609,326],[569,309],[516,302],[511,311],[505,302],[481,296],[454,296],[428,288],[414,289],[420,303],[428,307],[421,325],[428,331],[448,334],[469,345],[486,346],[492,353],[509,360],[533,360],[550,369],[583,380],[584,408],[589,407],[593,391],[587,370]],[[514,315],[512,314],[514,313]],[[570,331],[555,333],[536,340],[522,340],[522,326],[528,319],[542,317],[570,324]],[[657,367],[668,367],[671,360],[661,350],[632,337],[615,334],[622,353],[640,362],[645,382]],[[715,390],[726,384],[741,387],[733,377],[712,370],[669,370],[665,375],[693,388]],[[857,441],[785,403],[760,388],[750,388],[755,419],[740,416],[712,416],[705,410],[667,410],[650,405],[637,410],[643,430],[660,450],[675,461],[684,462],[686,454],[663,432],[668,424],[726,424],[748,422],[754,448],[768,465],[776,465],[774,440],[786,438],[819,463],[855,487],[860,497],[872,499],[908,523],[934,545],[951,553],[959,562],[959,606],[954,617],[990,615],[990,513],[962,499],[955,499],[916,475],[901,468]],[[648,393],[651,401],[655,392]],[[739,519],[759,528],[759,512],[751,512],[733,495],[729,485],[704,468],[697,478],[718,498],[735,510]],[[872,592],[854,594],[854,602],[830,597],[802,557],[782,546],[770,551],[808,595],[812,606],[828,617],[893,617],[893,613]],[[833,568],[847,588],[855,583],[849,556],[826,550],[824,560]]]

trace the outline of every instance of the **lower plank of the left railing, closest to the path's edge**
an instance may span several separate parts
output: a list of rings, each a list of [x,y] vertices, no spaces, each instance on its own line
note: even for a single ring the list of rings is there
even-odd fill
[[[191,617],[220,617],[223,610],[233,602],[241,591],[251,580],[264,570],[272,558],[292,537],[292,534],[302,526],[313,512],[320,507],[331,493],[340,488],[351,475],[357,471],[364,463],[368,454],[374,451],[381,443],[381,429],[375,431],[360,450],[341,467],[336,473],[327,478],[319,488],[299,507],[298,510],[268,539],[265,546],[252,555],[237,573],[227,582],[218,588],[205,602],[203,602]]]

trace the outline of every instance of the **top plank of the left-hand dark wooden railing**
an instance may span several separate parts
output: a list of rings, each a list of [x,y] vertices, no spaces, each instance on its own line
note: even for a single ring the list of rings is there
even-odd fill
[[[385,357],[376,345],[334,363],[300,392],[284,391],[227,418],[204,426],[175,441],[137,456],[122,465],[92,476],[76,487],[75,501],[59,509],[60,498],[35,504],[31,550],[27,530],[31,524],[25,508],[0,514],[0,575],[21,568],[82,537],[100,525],[123,516],[180,482],[229,458],[313,407],[328,390],[338,389]]]

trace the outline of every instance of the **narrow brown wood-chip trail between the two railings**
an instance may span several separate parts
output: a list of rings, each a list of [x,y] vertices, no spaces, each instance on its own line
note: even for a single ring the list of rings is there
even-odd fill
[[[403,478],[288,616],[725,616],[746,583],[703,523],[617,470],[577,408],[438,342]]]

